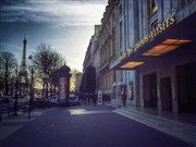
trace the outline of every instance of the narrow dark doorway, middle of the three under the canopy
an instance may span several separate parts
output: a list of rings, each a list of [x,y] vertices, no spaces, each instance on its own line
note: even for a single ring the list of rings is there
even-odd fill
[[[162,110],[172,110],[172,94],[171,94],[171,78],[164,77],[160,79],[161,82],[161,100]]]

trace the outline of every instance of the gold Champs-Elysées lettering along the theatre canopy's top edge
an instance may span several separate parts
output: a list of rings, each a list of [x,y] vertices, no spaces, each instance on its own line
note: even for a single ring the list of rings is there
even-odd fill
[[[154,39],[157,35],[164,32],[167,28],[169,28],[171,25],[173,25],[175,22],[174,15],[171,15],[168,20],[166,20],[160,26],[156,27],[154,30],[150,32],[147,36],[145,36],[143,39],[137,41],[132,48],[127,50],[127,52],[123,53],[119,60],[123,60],[126,57],[131,56],[133,52],[136,52],[143,45],[147,44],[151,39]]]

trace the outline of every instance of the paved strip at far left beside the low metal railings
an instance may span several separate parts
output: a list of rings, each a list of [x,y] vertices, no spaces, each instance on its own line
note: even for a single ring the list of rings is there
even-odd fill
[[[0,139],[4,139],[21,127],[23,127],[27,122],[33,121],[37,117],[41,115],[46,110],[34,109],[30,112],[30,119],[28,119],[28,112],[19,111],[16,117],[4,118],[0,122]]]

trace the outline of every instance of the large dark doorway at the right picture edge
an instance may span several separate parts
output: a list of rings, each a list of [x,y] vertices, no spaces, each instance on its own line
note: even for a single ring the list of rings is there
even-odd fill
[[[180,112],[196,112],[196,62],[176,66]]]

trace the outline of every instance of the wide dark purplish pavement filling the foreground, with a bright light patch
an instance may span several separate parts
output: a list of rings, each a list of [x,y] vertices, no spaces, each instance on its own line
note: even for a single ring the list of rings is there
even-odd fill
[[[0,139],[0,147],[191,147],[112,110],[93,105],[42,110]]]

